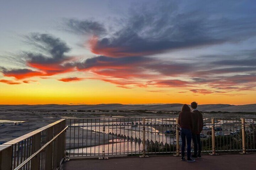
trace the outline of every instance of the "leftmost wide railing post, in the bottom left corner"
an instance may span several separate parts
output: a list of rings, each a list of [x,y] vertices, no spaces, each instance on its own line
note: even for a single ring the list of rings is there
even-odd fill
[[[0,145],[0,170],[11,170],[11,161],[12,145]]]

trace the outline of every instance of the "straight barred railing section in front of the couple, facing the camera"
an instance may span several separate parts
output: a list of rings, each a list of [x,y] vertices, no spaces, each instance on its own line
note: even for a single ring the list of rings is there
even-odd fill
[[[66,150],[71,157],[180,154],[178,118],[67,119],[66,123]],[[256,150],[255,118],[204,118],[203,124],[203,153]]]

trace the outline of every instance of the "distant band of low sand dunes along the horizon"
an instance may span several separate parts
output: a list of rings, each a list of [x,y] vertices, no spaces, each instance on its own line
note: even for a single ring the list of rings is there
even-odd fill
[[[150,110],[150,111],[180,111],[182,104],[96,104],[96,105],[0,105],[0,110]],[[199,105],[201,111],[221,112],[256,112],[256,104],[230,105],[230,104],[203,104]]]

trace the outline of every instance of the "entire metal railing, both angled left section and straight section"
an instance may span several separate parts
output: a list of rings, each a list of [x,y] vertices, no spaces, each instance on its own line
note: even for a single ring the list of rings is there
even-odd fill
[[[203,153],[256,151],[256,118],[203,124]],[[0,169],[58,169],[66,156],[180,155],[180,148],[178,118],[61,119],[0,145]]]

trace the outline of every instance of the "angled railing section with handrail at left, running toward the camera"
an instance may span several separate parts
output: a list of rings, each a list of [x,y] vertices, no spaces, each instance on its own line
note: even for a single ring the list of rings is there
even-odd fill
[[[65,157],[66,128],[66,119],[61,119],[2,144],[0,167],[14,170],[58,168]]]

